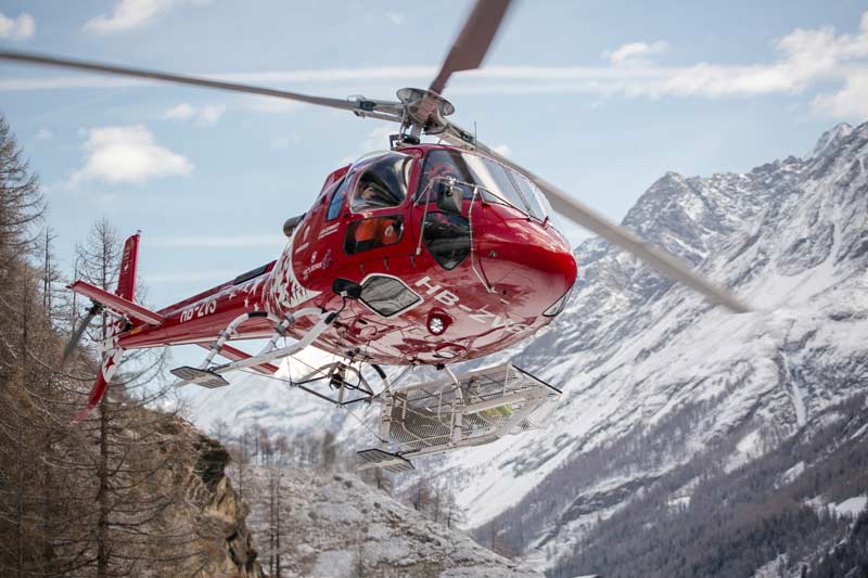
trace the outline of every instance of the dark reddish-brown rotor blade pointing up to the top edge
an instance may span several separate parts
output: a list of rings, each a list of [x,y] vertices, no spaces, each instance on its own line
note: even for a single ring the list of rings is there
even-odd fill
[[[441,72],[429,90],[442,93],[452,73],[473,70],[482,64],[488,47],[503,21],[510,0],[476,0],[473,12],[464,22],[451,50],[443,62]]]

